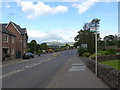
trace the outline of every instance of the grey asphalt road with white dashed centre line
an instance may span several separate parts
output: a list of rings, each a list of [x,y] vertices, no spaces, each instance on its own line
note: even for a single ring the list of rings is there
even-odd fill
[[[39,58],[2,68],[3,88],[45,88],[75,50],[60,52],[60,56],[44,54]]]

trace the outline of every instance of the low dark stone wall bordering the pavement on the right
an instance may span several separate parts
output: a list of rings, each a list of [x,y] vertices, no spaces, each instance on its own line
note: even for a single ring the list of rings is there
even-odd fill
[[[87,66],[95,72],[95,60],[89,59]],[[104,80],[111,88],[120,88],[120,71],[98,63],[98,77]]]

